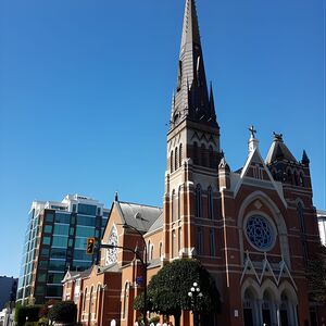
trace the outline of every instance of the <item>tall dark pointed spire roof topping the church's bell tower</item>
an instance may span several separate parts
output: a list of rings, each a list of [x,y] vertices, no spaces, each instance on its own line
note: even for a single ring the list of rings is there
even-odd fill
[[[172,102],[171,127],[184,118],[216,126],[213,99],[206,85],[195,0],[186,0],[178,65],[178,82]]]

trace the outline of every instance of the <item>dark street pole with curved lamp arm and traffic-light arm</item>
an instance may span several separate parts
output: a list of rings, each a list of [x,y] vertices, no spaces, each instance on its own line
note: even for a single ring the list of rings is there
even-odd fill
[[[129,252],[133,252],[136,254],[137,259],[140,261],[141,266],[143,268],[143,310],[142,310],[142,319],[143,319],[143,325],[147,326],[147,264],[148,264],[148,259],[147,259],[147,244],[146,244],[146,240],[143,238],[143,235],[134,226],[128,225],[128,224],[122,224],[123,228],[129,228],[135,230],[140,237],[141,240],[143,242],[143,253],[145,253],[145,258],[141,258],[141,255],[139,254],[137,248],[134,250],[131,248],[127,248],[127,247],[122,247],[122,246],[115,246],[115,244],[104,244],[101,243],[100,247],[101,248],[106,248],[106,249],[113,249],[113,248],[117,248],[117,249],[123,249]]]

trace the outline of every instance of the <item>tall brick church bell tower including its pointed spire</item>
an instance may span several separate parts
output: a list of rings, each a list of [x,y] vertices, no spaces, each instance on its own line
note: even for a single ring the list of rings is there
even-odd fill
[[[218,198],[220,126],[208,87],[195,0],[186,0],[177,86],[167,133],[164,193],[165,260],[203,254]]]

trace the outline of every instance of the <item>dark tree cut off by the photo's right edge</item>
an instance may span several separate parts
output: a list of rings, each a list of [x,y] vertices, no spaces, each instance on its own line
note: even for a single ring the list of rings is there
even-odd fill
[[[310,298],[326,303],[326,247],[321,246],[308,265]]]

